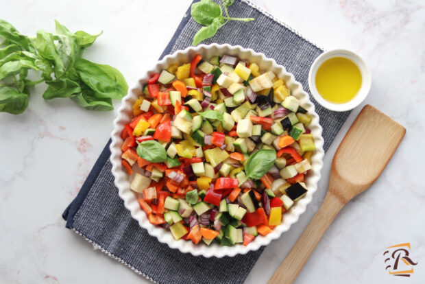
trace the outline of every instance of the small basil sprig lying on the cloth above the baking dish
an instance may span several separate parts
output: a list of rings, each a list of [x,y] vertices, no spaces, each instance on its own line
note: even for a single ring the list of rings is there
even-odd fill
[[[223,25],[226,25],[228,21],[243,21],[249,22],[254,21],[254,18],[232,18],[229,16],[228,7],[233,4],[234,0],[222,0],[224,12],[221,7],[211,0],[201,0],[197,3],[193,3],[191,7],[192,18],[197,23],[204,25],[199,31],[193,36],[192,45],[198,45],[203,40],[214,36],[217,30]]]

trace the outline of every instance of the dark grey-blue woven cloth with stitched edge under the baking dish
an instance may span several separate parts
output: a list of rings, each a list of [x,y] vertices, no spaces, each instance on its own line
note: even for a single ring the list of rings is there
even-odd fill
[[[162,56],[191,45],[199,25],[190,10],[180,23]],[[284,65],[308,92],[308,70],[321,49],[298,36],[250,3],[235,1],[230,15],[250,16],[250,23],[231,21],[206,43],[230,43],[251,47]],[[348,117],[316,104],[324,128],[325,150]],[[243,283],[263,248],[247,255],[223,259],[193,257],[160,244],[132,219],[114,187],[110,152],[106,145],[80,193],[64,212],[66,227],[86,237],[106,254],[158,283]]]

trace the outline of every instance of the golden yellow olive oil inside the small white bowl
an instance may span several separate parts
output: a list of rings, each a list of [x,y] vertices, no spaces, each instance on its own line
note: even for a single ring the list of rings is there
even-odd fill
[[[329,102],[334,104],[350,102],[359,92],[360,87],[359,67],[347,58],[330,58],[317,69],[317,91]]]

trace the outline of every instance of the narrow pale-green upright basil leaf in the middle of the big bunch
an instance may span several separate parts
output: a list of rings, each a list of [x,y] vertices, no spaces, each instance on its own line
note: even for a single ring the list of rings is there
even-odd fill
[[[36,40],[34,40],[34,46],[42,58],[53,62],[53,69],[55,71],[56,78],[62,77],[65,72],[64,62],[62,62],[58,51],[56,51],[53,34],[40,29],[37,32]]]

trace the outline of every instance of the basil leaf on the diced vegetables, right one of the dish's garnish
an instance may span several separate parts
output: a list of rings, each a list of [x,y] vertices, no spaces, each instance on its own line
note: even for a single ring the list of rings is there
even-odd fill
[[[271,149],[261,149],[248,158],[245,163],[245,174],[247,178],[259,180],[264,176],[276,161],[276,151]]]

